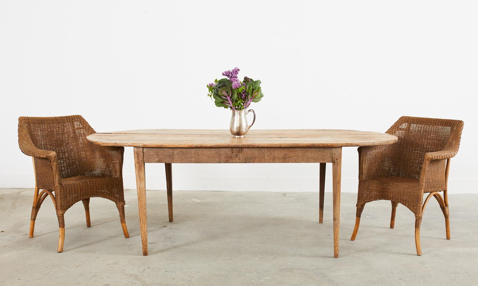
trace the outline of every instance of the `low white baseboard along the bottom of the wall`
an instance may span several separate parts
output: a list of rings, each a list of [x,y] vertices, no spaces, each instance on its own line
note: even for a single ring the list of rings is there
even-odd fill
[[[136,189],[135,176],[124,176],[124,188]],[[318,189],[318,177],[205,177],[173,176],[174,190],[197,191],[271,191],[314,192]],[[341,191],[357,192],[358,179],[342,177]],[[478,194],[478,179],[450,178],[450,194]],[[32,174],[0,174],[0,187],[34,187]],[[164,176],[146,176],[146,188],[164,190]],[[326,192],[332,191],[332,178],[326,177]]]

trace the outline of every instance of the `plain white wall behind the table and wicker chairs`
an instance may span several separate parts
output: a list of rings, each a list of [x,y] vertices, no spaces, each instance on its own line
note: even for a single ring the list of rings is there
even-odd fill
[[[33,187],[19,116],[81,114],[98,131],[227,129],[206,84],[261,79],[256,129],[384,132],[402,115],[465,121],[450,191],[478,193],[476,1],[0,2],[0,187]],[[357,150],[342,190],[357,189]],[[125,187],[135,189],[131,148]],[[330,171],[329,167],[329,171]],[[164,189],[163,165],[147,187]],[[174,165],[174,189],[316,191],[318,164]],[[328,174],[330,176],[330,173]],[[327,190],[330,190],[330,179]]]

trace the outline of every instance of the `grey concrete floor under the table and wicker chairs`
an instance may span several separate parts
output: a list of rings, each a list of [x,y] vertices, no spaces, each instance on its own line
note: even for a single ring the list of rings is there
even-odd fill
[[[340,258],[333,258],[332,196],[324,223],[317,193],[175,191],[174,222],[166,193],[148,191],[149,256],[141,255],[136,192],[125,191],[123,237],[114,203],[92,198],[92,227],[77,203],[65,214],[65,248],[45,200],[28,238],[32,189],[0,189],[0,285],[477,285],[477,195],[450,195],[451,240],[434,199],[416,256],[414,217],[369,203],[356,241],[356,194],[342,194]]]

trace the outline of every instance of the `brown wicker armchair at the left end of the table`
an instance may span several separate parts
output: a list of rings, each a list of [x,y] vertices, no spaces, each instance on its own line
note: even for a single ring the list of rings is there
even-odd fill
[[[38,210],[49,196],[60,227],[58,252],[63,251],[65,242],[65,211],[81,200],[87,227],[91,227],[89,199],[92,197],[108,198],[116,203],[124,237],[130,237],[124,219],[124,147],[89,143],[86,137],[92,133],[95,133],[93,128],[79,115],[18,119],[18,144],[24,154],[33,157],[35,172],[30,237],[33,237]],[[39,193],[40,189],[43,191]]]

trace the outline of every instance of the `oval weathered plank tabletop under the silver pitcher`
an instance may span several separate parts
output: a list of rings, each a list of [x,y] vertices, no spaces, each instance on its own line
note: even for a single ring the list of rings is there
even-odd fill
[[[234,137],[227,129],[142,129],[87,136],[102,146],[129,147],[351,147],[397,142],[391,134],[338,129],[251,129],[244,137]]]

